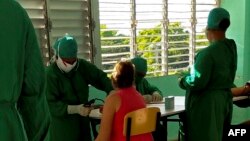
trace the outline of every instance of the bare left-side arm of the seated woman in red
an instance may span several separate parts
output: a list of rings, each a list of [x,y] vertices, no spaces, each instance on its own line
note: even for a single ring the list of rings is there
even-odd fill
[[[110,141],[113,118],[120,107],[120,102],[120,97],[115,94],[115,91],[111,91],[105,100],[100,131],[95,141]]]

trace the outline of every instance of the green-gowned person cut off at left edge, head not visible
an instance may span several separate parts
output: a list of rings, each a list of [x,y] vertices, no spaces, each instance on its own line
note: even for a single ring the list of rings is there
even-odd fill
[[[0,141],[47,141],[51,119],[33,25],[15,0],[0,0],[0,17]]]

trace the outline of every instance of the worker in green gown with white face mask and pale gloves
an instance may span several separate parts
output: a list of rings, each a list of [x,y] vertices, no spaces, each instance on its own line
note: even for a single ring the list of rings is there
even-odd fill
[[[65,35],[54,45],[55,61],[47,68],[47,100],[52,115],[52,141],[90,141],[89,85],[109,93],[107,74],[77,58],[77,42]]]

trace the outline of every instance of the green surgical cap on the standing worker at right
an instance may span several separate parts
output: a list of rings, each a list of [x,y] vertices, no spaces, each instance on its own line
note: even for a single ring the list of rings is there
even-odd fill
[[[230,21],[230,14],[224,8],[214,8],[209,12],[207,20],[207,29],[220,29],[219,25],[222,20]]]

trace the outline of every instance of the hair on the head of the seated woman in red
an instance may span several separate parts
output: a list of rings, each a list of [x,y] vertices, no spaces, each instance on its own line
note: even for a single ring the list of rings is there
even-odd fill
[[[118,88],[128,88],[133,85],[135,78],[134,65],[130,61],[121,61],[115,65],[111,76],[112,83]]]

